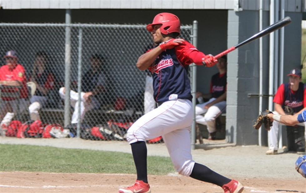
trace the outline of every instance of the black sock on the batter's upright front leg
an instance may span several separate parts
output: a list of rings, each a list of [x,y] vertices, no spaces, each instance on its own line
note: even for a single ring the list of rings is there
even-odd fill
[[[137,180],[148,183],[147,174],[147,146],[144,141],[137,141],[131,144],[133,158],[137,171]]]

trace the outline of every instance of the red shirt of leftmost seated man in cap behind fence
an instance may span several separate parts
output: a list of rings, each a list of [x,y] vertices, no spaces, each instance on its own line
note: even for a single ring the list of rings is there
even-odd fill
[[[26,75],[23,66],[17,64],[13,70],[8,68],[8,65],[4,65],[0,68],[0,81],[19,81],[22,83],[23,88],[20,90],[20,97],[28,97],[28,89],[26,82]],[[2,92],[16,92],[16,90],[5,90]],[[14,100],[13,98],[3,98],[5,101]]]

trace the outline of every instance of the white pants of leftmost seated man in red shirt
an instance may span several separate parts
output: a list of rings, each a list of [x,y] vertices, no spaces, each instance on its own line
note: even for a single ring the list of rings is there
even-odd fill
[[[19,109],[18,109],[19,105]],[[21,98],[19,100],[12,100],[12,101],[1,101],[1,117],[5,113],[5,116],[1,120],[0,126],[2,124],[9,125],[13,120],[14,116],[19,112],[22,113],[23,111],[27,110],[29,106],[29,101]]]

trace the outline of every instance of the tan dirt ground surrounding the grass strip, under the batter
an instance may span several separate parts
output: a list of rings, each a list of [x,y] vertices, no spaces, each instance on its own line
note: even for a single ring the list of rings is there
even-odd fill
[[[215,141],[216,143],[218,141]],[[130,153],[125,141],[88,141],[80,139],[19,139],[1,138],[1,144],[26,144],[60,148],[93,149]],[[148,156],[169,156],[164,144],[147,144]],[[267,147],[228,146],[193,150],[193,159],[214,171],[239,180],[244,192],[304,192],[306,179],[294,169],[299,154],[265,155]],[[118,192],[132,185],[135,175],[76,174],[42,172],[0,172],[0,192]],[[177,174],[149,175],[152,192],[223,192],[216,185],[203,183]]]

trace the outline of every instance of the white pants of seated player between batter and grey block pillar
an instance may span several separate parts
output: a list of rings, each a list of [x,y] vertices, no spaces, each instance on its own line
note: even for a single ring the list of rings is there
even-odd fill
[[[195,107],[196,122],[202,125],[206,125],[209,133],[213,133],[217,130],[216,118],[226,111],[226,101],[218,102],[208,109],[204,108],[208,103],[214,100],[216,100],[216,98],[211,98],[209,101],[198,104]],[[203,116],[202,114],[204,113],[205,115]]]

